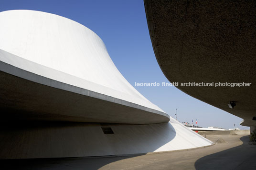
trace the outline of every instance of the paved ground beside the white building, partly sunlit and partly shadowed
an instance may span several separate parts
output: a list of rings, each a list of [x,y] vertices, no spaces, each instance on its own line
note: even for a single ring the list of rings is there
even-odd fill
[[[37,170],[256,170],[256,145],[249,136],[204,133],[221,143],[207,148],[129,157],[1,160],[1,165]],[[227,142],[227,143],[226,143]]]

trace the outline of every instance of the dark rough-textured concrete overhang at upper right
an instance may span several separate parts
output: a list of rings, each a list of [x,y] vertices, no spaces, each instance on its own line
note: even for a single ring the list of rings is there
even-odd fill
[[[256,1],[144,0],[161,70],[171,82],[245,82],[177,87],[256,126]],[[235,101],[230,109],[228,104]],[[221,118],[220,118],[221,119]]]

